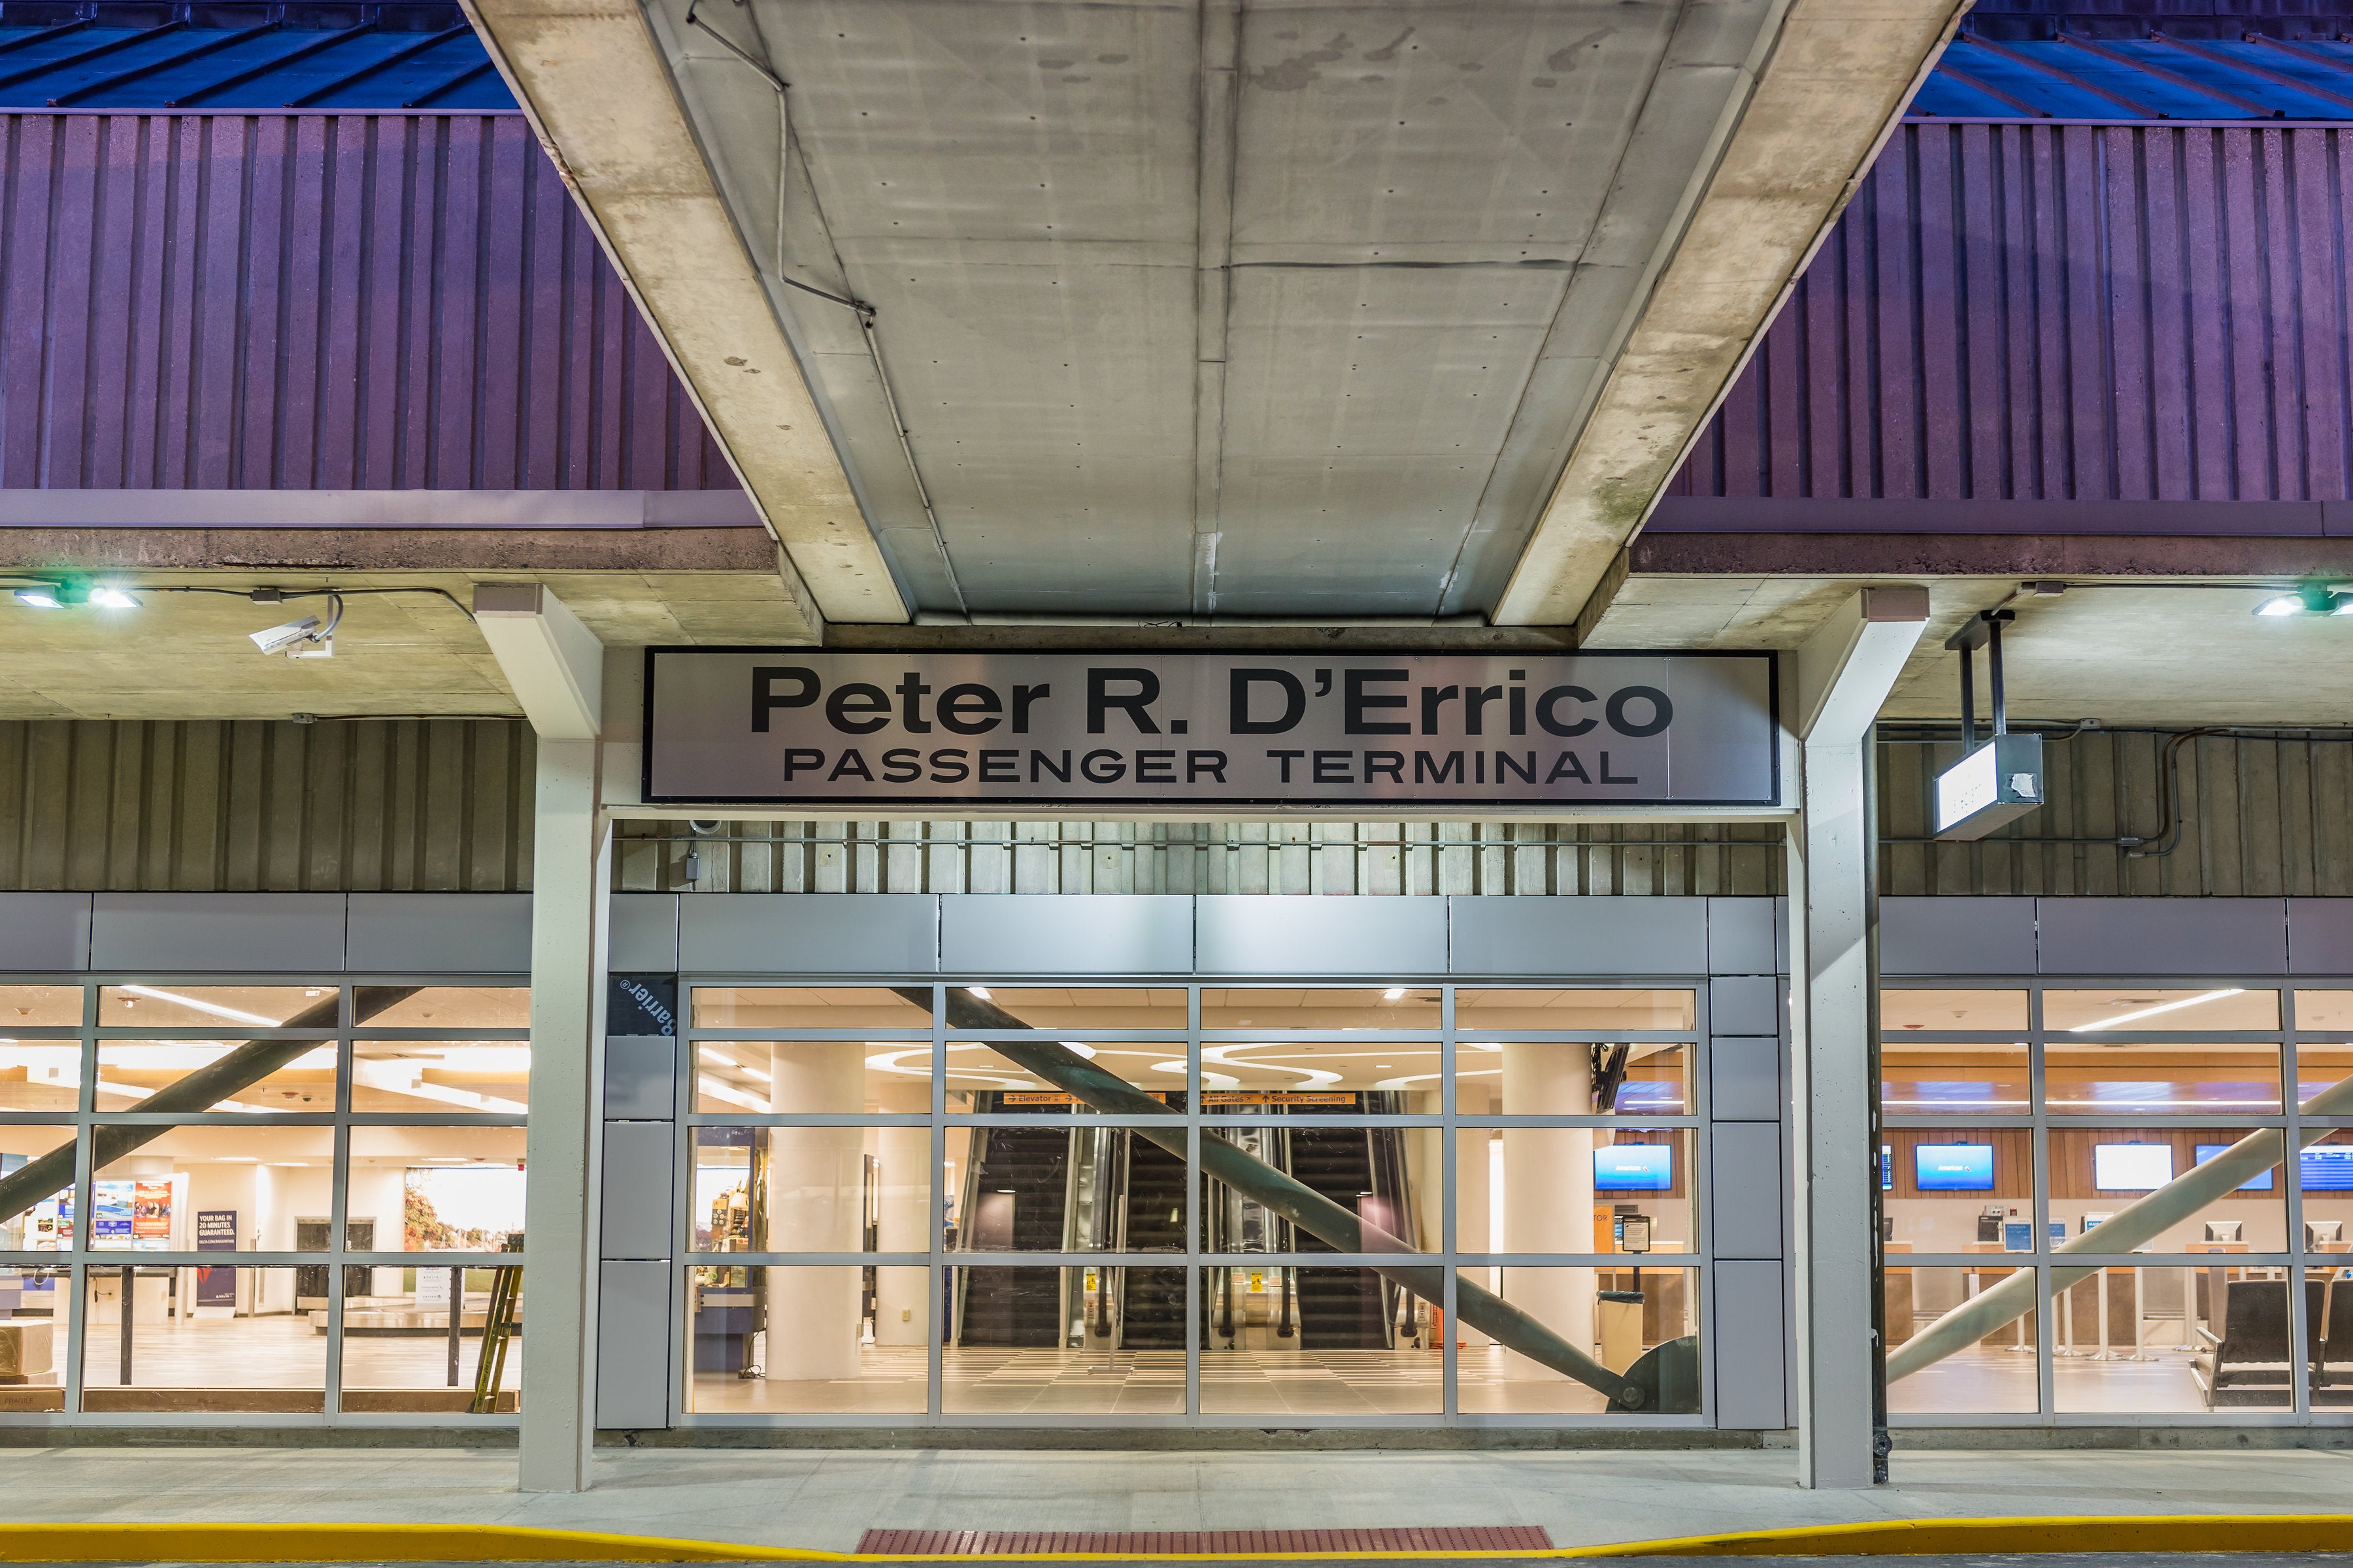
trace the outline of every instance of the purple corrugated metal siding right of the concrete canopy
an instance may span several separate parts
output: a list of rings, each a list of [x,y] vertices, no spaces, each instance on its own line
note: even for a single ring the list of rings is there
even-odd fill
[[[1671,494],[2353,496],[2339,134],[1899,127]]]

